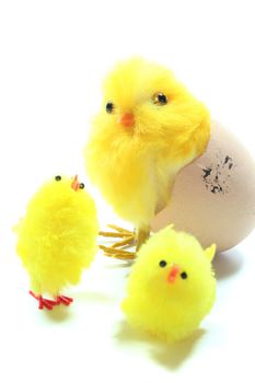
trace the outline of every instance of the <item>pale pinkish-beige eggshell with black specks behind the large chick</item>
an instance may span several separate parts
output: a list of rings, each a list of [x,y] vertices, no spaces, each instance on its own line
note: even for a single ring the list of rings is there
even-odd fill
[[[174,223],[218,252],[235,246],[255,225],[255,162],[234,135],[212,121],[204,155],[176,177],[172,200],[159,212],[153,231]]]

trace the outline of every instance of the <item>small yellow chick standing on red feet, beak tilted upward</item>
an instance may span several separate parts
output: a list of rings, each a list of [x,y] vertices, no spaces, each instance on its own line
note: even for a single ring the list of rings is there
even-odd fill
[[[39,309],[72,302],[61,295],[61,290],[77,285],[83,268],[94,259],[97,230],[94,201],[77,176],[70,179],[58,175],[32,198],[16,228],[16,252]],[[43,298],[44,293],[54,299]]]

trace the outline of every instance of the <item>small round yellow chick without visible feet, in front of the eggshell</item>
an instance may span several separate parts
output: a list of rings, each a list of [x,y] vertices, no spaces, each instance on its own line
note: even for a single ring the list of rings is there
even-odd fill
[[[216,245],[167,227],[138,252],[123,310],[130,325],[173,343],[189,336],[216,299]]]

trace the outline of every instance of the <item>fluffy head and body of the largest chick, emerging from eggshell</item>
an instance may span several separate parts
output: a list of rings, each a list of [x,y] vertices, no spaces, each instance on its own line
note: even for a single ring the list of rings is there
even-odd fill
[[[85,165],[115,211],[135,224],[138,248],[177,173],[205,151],[209,136],[207,108],[169,69],[132,58],[106,78]]]

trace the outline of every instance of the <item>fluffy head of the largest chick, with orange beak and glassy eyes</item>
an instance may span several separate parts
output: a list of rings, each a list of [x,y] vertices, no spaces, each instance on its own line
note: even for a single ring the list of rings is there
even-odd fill
[[[194,139],[197,151],[205,149],[208,112],[169,69],[140,58],[129,59],[109,73],[103,93],[94,127],[115,147],[131,140],[144,149],[148,144],[164,147],[171,141],[172,152],[181,155],[187,150],[185,144]]]

